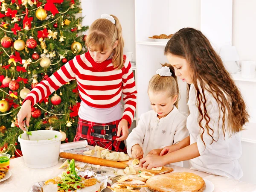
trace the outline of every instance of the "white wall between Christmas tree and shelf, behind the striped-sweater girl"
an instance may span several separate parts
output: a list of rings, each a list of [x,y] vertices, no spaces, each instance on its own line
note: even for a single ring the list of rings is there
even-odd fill
[[[122,25],[124,52],[133,52],[135,59],[134,0],[81,0],[81,8],[83,26],[90,26],[103,13],[115,15]]]

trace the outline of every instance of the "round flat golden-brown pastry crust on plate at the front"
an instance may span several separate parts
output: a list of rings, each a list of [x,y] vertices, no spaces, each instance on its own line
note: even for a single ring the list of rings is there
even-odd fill
[[[150,190],[157,192],[203,192],[206,187],[202,177],[188,172],[157,175],[146,183]]]

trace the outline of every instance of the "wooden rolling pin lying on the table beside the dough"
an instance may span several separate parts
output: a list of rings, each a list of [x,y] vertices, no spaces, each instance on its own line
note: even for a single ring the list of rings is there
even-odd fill
[[[111,160],[101,159],[101,158],[97,158],[97,157],[90,157],[87,155],[80,155],[80,154],[73,154],[73,153],[61,152],[60,157],[66,158],[66,159],[74,159],[76,161],[90,163],[90,164],[94,164],[94,165],[114,167],[114,168],[118,168],[118,169],[125,169],[128,166],[125,163],[121,163],[121,162],[117,162],[117,161],[111,161]]]

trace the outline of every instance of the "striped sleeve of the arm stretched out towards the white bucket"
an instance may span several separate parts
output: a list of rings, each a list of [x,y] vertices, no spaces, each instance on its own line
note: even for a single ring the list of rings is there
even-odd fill
[[[78,56],[80,55],[77,55],[76,57]],[[78,64],[76,57],[73,60],[68,61],[59,70],[53,73],[52,76],[36,85],[23,100],[23,103],[29,99],[31,101],[31,106],[33,106],[41,99],[51,95],[55,90],[58,90],[62,85],[74,79],[77,70],[76,64]]]

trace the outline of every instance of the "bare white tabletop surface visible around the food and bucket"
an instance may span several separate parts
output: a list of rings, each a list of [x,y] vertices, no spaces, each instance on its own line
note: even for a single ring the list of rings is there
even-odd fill
[[[58,169],[61,164],[62,162],[59,162],[53,167],[32,169],[25,166],[23,157],[12,159],[10,160],[9,168],[12,172],[12,176],[3,182],[0,182],[0,192],[29,192],[35,183],[56,177],[63,172],[64,169]],[[256,192],[256,185],[254,184],[227,179],[225,177],[178,166],[171,167],[174,169],[174,172],[191,172],[211,181],[215,186],[214,192]],[[141,192],[145,192],[145,189],[142,189]]]

